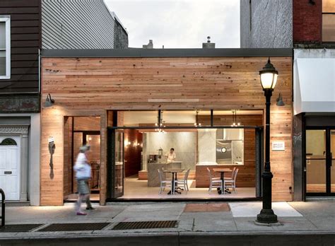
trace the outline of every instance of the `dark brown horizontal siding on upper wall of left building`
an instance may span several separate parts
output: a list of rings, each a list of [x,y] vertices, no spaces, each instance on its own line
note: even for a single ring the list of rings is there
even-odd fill
[[[11,78],[0,79],[1,93],[38,93],[41,44],[40,1],[0,1],[0,16],[11,16]]]

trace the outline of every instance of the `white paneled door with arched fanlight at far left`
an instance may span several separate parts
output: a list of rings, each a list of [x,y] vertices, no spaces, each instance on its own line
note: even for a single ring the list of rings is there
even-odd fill
[[[19,136],[0,136],[0,188],[6,200],[20,199]]]

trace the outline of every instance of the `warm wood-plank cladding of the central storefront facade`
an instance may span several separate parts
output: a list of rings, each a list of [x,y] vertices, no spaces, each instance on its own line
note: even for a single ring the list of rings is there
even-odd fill
[[[64,202],[64,120],[100,117],[100,204],[107,195],[109,110],[264,110],[259,70],[268,57],[279,72],[271,105],[271,141],[285,151],[271,151],[274,201],[291,201],[292,57],[287,49],[134,49],[42,53],[40,204]],[[281,93],[286,105],[276,106]],[[49,166],[48,138],[56,145]]]

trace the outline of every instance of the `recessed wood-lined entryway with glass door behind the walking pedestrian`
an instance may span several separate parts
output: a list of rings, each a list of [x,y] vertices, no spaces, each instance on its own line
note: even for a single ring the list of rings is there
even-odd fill
[[[90,146],[86,152],[91,167],[90,199],[99,201],[100,117],[64,117],[64,201],[78,199],[74,165],[83,145]]]

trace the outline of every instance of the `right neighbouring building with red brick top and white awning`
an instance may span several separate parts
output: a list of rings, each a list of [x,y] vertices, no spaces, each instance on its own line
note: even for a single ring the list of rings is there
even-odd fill
[[[335,6],[293,1],[294,199],[335,194]]]

